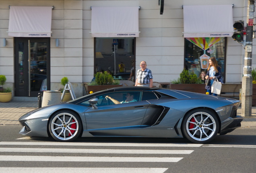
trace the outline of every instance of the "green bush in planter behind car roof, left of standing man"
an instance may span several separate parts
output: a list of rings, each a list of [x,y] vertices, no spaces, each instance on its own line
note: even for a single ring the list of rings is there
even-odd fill
[[[95,79],[88,84],[88,92],[91,91],[93,93],[97,91],[101,91],[104,89],[120,87],[119,80],[114,80],[113,76],[109,73],[105,72],[97,72],[95,74]]]

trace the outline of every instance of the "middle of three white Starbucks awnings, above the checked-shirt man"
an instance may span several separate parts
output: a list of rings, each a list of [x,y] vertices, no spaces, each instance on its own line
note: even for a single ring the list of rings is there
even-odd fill
[[[138,37],[139,7],[91,7],[93,37]]]

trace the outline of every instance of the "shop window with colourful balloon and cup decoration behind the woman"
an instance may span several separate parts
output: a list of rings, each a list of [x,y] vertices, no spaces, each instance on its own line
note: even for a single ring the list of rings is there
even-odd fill
[[[185,38],[184,68],[199,76],[205,66],[201,65],[200,56],[214,56],[221,67],[221,75],[225,82],[226,37],[220,38]]]

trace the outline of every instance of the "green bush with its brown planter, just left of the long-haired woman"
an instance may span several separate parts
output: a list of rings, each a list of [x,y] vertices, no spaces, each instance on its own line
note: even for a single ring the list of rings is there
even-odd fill
[[[182,70],[178,79],[171,80],[170,89],[205,94],[205,84],[202,84],[194,72],[186,69]]]

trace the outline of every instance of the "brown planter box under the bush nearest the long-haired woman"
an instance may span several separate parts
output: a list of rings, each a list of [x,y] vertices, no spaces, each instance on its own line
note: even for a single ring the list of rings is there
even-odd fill
[[[194,93],[206,93],[205,84],[170,84],[170,89],[190,91]]]

